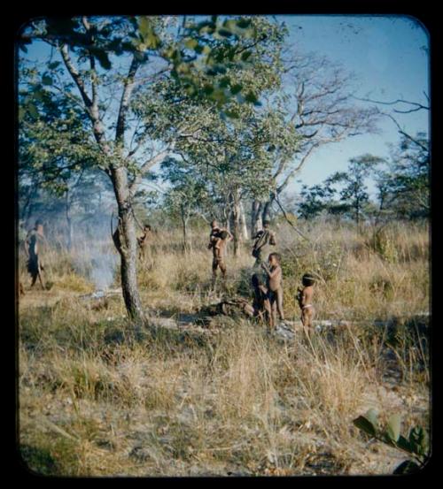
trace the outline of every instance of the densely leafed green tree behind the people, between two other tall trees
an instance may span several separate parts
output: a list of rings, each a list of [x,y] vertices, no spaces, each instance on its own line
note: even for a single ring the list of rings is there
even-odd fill
[[[281,111],[273,107],[255,109],[243,103],[240,88],[263,96],[279,86],[281,77],[284,33],[268,20],[255,22],[264,40],[260,50],[248,58],[251,69],[231,66],[217,79],[217,86],[237,94],[225,104],[224,114],[229,118],[214,112],[210,101],[183,96],[170,80],[140,90],[135,99],[135,110],[146,121],[144,134],[174,141],[175,154],[187,164],[197,165],[211,182],[223,210],[228,210],[225,218],[234,235],[235,253],[244,236],[243,200],[268,195],[276,144],[281,148],[297,144],[297,134],[293,126],[287,126]]]

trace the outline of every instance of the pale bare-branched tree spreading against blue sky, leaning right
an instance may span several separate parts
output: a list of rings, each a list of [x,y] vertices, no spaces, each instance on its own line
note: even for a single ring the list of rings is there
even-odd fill
[[[377,130],[377,109],[355,103],[352,73],[326,57],[300,53],[293,46],[287,46],[282,57],[282,89],[269,103],[284,111],[286,125],[293,126],[299,144],[292,151],[284,144],[276,145],[274,186],[264,202],[253,202],[253,227],[260,226],[273,200],[284,192],[316,149]]]

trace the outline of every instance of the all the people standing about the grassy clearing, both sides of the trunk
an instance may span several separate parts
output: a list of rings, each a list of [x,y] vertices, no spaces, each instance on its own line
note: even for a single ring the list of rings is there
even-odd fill
[[[283,271],[281,267],[281,255],[276,252],[268,253],[269,247],[276,246],[276,233],[269,229],[269,221],[263,222],[263,229],[253,236],[252,256],[255,258],[253,265],[253,275],[251,283],[253,286],[253,306],[245,308],[245,312],[258,317],[266,322],[271,329],[276,327],[276,315],[280,321],[284,321],[284,289]],[[215,287],[217,271],[221,271],[223,283],[226,282],[226,263],[225,249],[229,241],[233,239],[231,233],[226,228],[218,225],[217,221],[211,222],[211,233],[207,248],[213,251],[213,275],[212,288]],[[39,254],[39,247],[45,241],[43,233],[43,222],[37,219],[35,227],[27,233],[25,251],[27,254],[27,271],[30,273],[32,282],[31,287],[35,286],[38,279],[44,289],[42,271],[44,266]],[[143,234],[137,238],[138,256],[148,267],[152,266],[152,227],[145,224]],[[314,295],[314,278],[305,274],[302,278],[303,287],[297,291],[297,301],[301,309],[301,321],[307,333],[312,330],[312,320],[314,317],[314,307],[312,304]],[[20,294],[24,294],[24,289],[20,282]]]

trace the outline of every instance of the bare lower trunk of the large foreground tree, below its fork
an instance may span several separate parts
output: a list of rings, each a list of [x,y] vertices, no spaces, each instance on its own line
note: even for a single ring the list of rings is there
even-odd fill
[[[113,190],[119,211],[118,237],[120,246],[121,290],[128,316],[133,320],[143,320],[144,312],[138,294],[136,280],[136,229],[134,215],[129,201],[128,173],[126,168],[111,170]]]

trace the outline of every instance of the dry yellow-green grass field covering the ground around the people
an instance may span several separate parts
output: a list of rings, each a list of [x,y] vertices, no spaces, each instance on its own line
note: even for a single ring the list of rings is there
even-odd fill
[[[407,455],[365,438],[369,408],[402,415],[402,432],[430,424],[429,233],[423,225],[370,231],[313,225],[303,241],[277,229],[284,310],[317,276],[317,319],[337,332],[284,341],[242,317],[205,328],[144,326],[133,334],[119,295],[101,302],[89,243],[46,250],[50,290],[19,279],[19,441],[31,470],[63,476],[299,476],[389,474]],[[152,316],[194,314],[209,292],[207,231],[183,256],[175,230],[159,233],[155,266],[139,271]],[[114,256],[101,243],[101,256]],[[253,257],[228,256],[229,295],[250,295]],[[119,284],[118,273],[110,287]],[[384,325],[373,325],[374,322]],[[378,324],[378,323],[377,323]],[[388,325],[389,324],[389,325]]]

